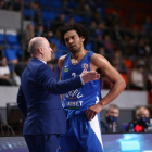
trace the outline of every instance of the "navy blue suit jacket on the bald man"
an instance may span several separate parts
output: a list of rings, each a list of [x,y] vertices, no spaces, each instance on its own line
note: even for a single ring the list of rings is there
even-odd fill
[[[79,76],[58,81],[48,65],[31,58],[17,93],[17,104],[25,116],[23,135],[64,134],[65,113],[59,94],[81,86]]]

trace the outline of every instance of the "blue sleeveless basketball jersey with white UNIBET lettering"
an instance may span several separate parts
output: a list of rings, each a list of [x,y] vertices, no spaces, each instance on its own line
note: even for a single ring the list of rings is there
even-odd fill
[[[78,64],[73,65],[71,62],[72,53],[68,53],[64,60],[62,80],[80,75],[87,64],[87,71],[90,71],[90,60],[92,54],[92,51],[88,51]],[[94,105],[100,100],[101,79],[86,83],[83,88],[78,88],[65,93],[63,97],[63,107],[68,110],[86,111],[89,106]]]

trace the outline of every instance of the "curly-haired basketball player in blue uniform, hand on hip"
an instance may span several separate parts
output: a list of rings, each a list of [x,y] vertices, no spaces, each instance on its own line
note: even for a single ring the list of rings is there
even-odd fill
[[[88,71],[105,75],[113,84],[110,92],[101,98],[102,79],[85,84],[64,94],[63,107],[66,113],[66,134],[60,136],[59,152],[102,152],[100,111],[111,103],[126,87],[118,72],[100,54],[85,50],[89,33],[81,24],[72,24],[58,29],[60,41],[71,51],[59,59],[61,79]]]

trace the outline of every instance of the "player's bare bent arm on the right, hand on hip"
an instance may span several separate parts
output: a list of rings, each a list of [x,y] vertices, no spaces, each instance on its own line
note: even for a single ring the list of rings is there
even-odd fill
[[[121,74],[110,64],[110,62],[100,54],[93,54],[91,56],[91,65],[93,69],[100,68],[101,73],[113,84],[110,92],[93,106],[90,106],[86,111],[88,119],[92,119],[97,113],[99,113],[103,106],[111,103],[126,87],[126,84]]]

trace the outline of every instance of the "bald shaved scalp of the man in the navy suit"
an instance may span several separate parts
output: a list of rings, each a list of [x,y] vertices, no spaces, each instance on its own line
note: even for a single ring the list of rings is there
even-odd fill
[[[28,51],[34,55],[40,47],[45,46],[47,39],[43,37],[35,37],[29,41]]]

